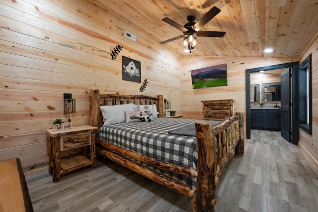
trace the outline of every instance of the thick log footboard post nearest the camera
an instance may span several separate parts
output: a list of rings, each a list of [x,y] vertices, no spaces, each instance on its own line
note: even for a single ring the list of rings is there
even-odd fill
[[[212,139],[212,124],[207,121],[195,122],[198,145],[198,181],[191,200],[194,212],[213,212],[216,191],[216,139]]]

